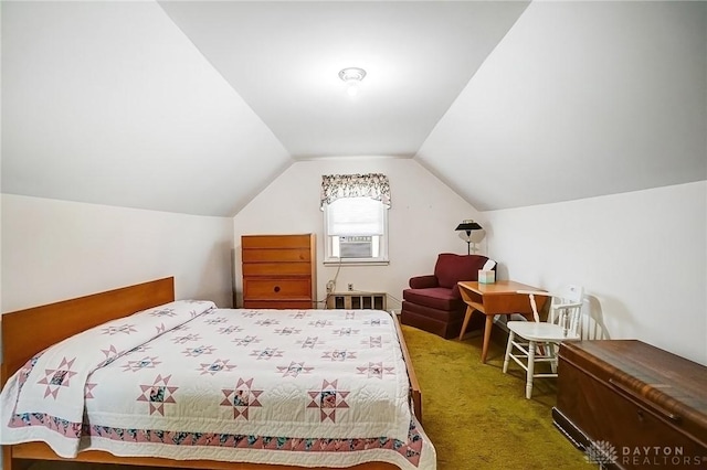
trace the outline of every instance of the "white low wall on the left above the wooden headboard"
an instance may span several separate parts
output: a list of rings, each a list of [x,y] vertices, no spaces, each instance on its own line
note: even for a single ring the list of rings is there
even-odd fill
[[[175,276],[231,307],[230,217],[2,194],[2,312]]]

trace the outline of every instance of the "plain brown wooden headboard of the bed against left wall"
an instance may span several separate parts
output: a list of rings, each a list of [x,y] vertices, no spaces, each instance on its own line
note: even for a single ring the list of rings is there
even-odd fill
[[[168,277],[106,292],[64,300],[2,316],[0,384],[35,353],[66,338],[116,318],[175,300]]]

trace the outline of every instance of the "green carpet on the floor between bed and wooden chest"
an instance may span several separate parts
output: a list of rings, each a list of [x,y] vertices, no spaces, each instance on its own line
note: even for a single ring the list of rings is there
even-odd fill
[[[425,432],[439,470],[591,469],[552,425],[556,378],[538,378],[525,398],[525,371],[503,368],[503,346],[492,341],[486,364],[482,338],[460,342],[403,325],[422,389]]]

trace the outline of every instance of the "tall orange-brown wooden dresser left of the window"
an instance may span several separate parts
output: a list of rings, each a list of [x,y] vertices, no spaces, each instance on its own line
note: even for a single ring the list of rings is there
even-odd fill
[[[243,308],[316,308],[316,254],[314,234],[243,235]]]

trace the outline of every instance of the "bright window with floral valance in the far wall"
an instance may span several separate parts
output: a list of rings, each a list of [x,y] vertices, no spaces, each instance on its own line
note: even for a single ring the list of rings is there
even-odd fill
[[[321,194],[324,263],[387,264],[388,178],[382,174],[325,175]]]

